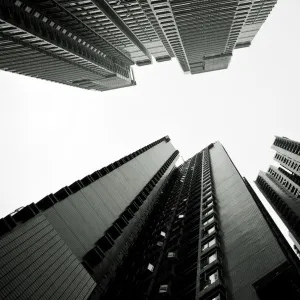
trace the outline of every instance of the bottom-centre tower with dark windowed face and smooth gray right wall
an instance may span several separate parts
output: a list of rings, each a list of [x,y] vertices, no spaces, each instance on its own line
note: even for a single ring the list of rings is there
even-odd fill
[[[211,144],[173,170],[103,299],[298,299],[297,258],[267,218]]]

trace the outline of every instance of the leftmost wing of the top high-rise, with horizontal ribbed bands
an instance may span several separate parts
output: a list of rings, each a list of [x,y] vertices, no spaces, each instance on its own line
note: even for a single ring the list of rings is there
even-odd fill
[[[51,19],[49,10],[42,10],[45,2],[0,1],[2,69],[93,90],[135,84],[129,65],[74,34],[75,24],[73,31],[71,25],[64,28],[64,16]]]

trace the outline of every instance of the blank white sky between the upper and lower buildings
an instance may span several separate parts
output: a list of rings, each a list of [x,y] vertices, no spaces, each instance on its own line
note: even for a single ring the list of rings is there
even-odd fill
[[[89,92],[0,71],[0,217],[164,135],[185,159],[216,140],[253,181],[274,135],[300,140],[299,0],[279,0],[228,70],[134,67],[137,86]]]

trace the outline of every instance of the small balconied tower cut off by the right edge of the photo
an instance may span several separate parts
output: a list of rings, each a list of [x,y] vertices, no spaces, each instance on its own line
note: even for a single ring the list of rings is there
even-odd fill
[[[300,243],[300,143],[276,137],[272,148],[280,166],[260,171],[256,185]]]

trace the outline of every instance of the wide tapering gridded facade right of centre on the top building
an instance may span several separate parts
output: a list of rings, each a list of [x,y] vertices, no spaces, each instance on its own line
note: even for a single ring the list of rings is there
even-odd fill
[[[229,60],[206,57],[224,54],[236,11],[236,1],[176,1],[172,4],[175,21],[182,39],[192,74],[226,68]]]

